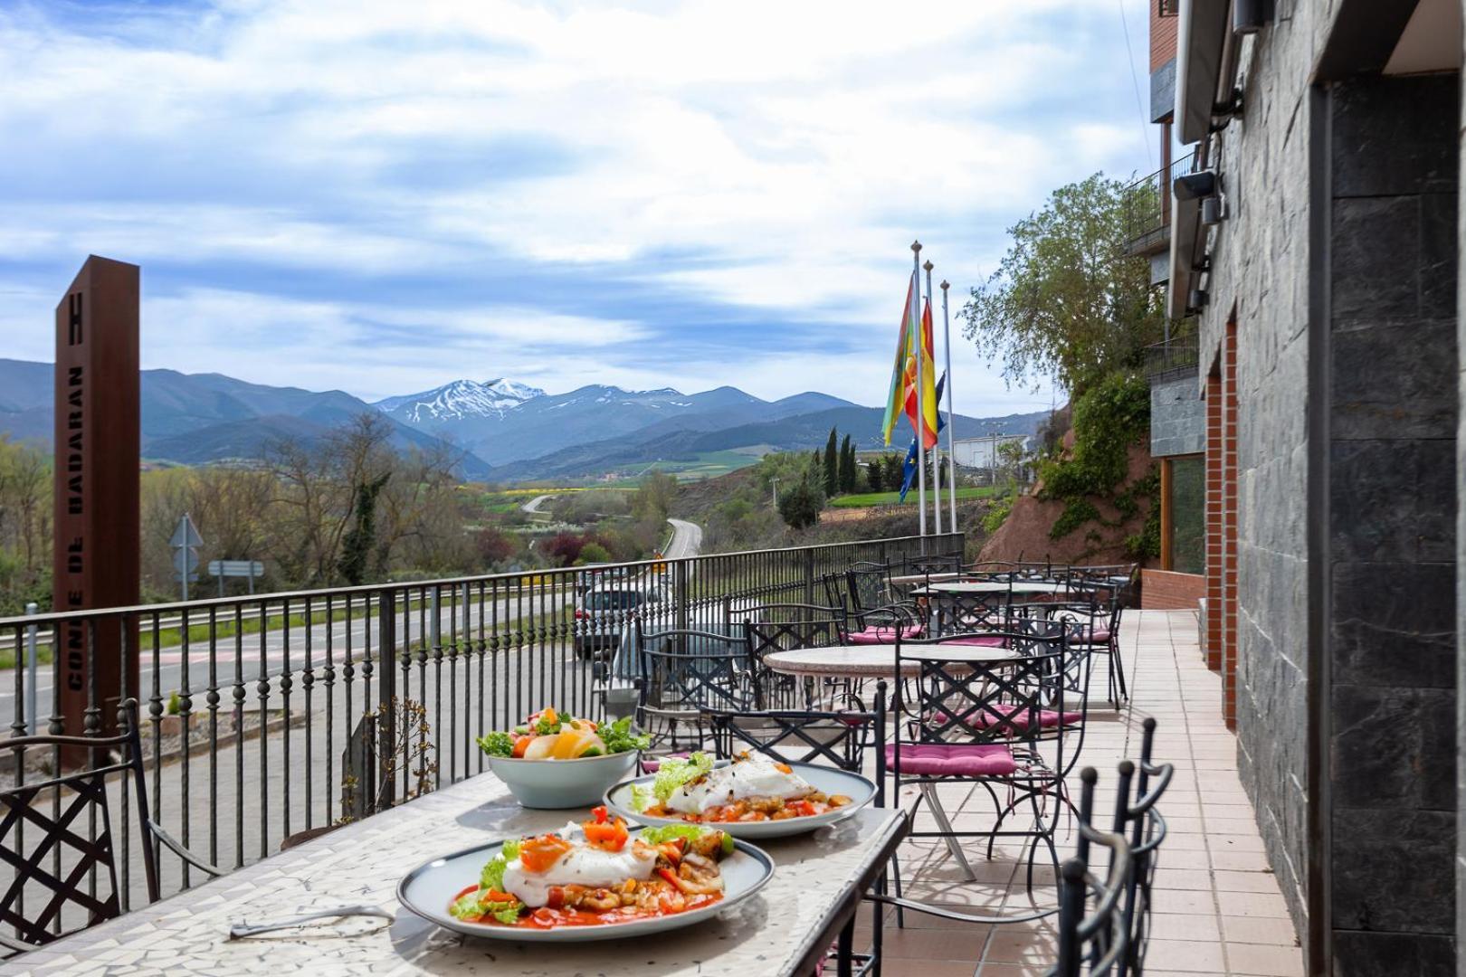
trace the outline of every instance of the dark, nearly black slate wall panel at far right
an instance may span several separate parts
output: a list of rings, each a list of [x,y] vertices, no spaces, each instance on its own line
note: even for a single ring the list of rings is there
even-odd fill
[[[1454,970],[1459,94],[1331,97],[1337,974]]]

